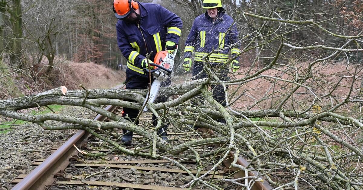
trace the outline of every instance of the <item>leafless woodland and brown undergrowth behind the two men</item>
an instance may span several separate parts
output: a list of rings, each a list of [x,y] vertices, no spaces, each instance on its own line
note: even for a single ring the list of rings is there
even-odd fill
[[[159,3],[181,17],[184,26],[180,50],[184,49],[194,18],[205,11],[201,7],[202,0],[142,2]],[[236,21],[240,39],[248,37],[256,45],[274,38],[270,34],[290,31],[296,29],[296,26],[279,26],[275,22],[247,17],[242,12],[290,20],[331,19],[323,22],[322,27],[342,35],[356,35],[363,26],[362,17],[357,14],[362,12],[362,0],[222,0],[222,3]],[[1,0],[0,83],[5,90],[0,93],[0,98],[22,96],[34,92],[34,89],[40,92],[60,85],[77,88],[79,81],[87,83],[92,76],[103,76],[105,80],[122,83],[124,73],[114,72],[125,69],[123,65],[126,64],[126,59],[117,46],[116,22],[110,0]],[[331,34],[319,28],[304,26],[299,26],[298,30],[284,37],[301,46],[339,47],[346,42],[344,38],[332,38]],[[241,43],[241,49],[252,42],[248,39]],[[255,64],[254,66],[262,67],[269,63],[279,43],[273,41],[246,51],[240,58],[241,66]],[[288,51],[284,52],[278,62],[302,63],[326,53],[329,51],[320,49],[309,52]],[[176,74],[183,71],[180,67],[183,51],[178,54],[180,60]],[[347,62],[348,58],[350,62],[356,62],[356,57],[355,52],[348,52],[347,55],[339,54],[334,59]],[[18,87],[14,88],[14,83]],[[90,84],[88,87],[100,86]]]

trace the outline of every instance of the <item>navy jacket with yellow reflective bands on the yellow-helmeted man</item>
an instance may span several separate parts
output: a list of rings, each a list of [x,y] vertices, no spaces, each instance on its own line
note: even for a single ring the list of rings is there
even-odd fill
[[[234,48],[238,47],[238,45],[231,47],[238,37],[237,27],[233,22],[233,19],[225,14],[223,10],[219,10],[216,21],[213,21],[207,12],[196,17],[188,39],[185,41],[185,58],[191,58],[194,53],[194,61],[202,62],[203,56],[212,50],[223,48],[225,49],[211,54],[208,61],[212,64],[224,63],[229,59],[229,52],[231,52],[233,58],[233,55],[240,52],[238,48]],[[239,66],[238,57],[234,59],[233,65]]]

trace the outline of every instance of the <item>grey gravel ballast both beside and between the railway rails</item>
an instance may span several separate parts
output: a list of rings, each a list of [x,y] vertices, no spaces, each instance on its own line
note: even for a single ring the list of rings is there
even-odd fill
[[[61,113],[77,113],[77,117],[92,117],[95,114],[91,111],[69,106],[62,110]],[[59,113],[59,114],[61,114]],[[48,124],[59,124],[57,122],[50,122]],[[27,123],[26,125],[30,125]],[[75,130],[64,131],[44,131],[41,127],[32,124],[33,127],[19,127],[17,130],[12,130],[6,134],[2,134],[0,139],[0,190],[11,189],[13,186],[11,181],[20,174],[28,174],[35,166],[30,166],[34,161],[40,158],[45,158],[50,155],[50,151],[54,146],[60,146],[65,140],[68,140]],[[136,139],[135,139],[136,140]],[[63,142],[62,142],[63,141]],[[142,140],[140,140],[142,141]],[[97,142],[97,140],[96,140]],[[89,143],[97,147],[99,143]],[[132,148],[132,147],[131,147]],[[86,150],[87,151],[87,150]],[[208,150],[206,150],[208,151]],[[82,156],[81,156],[82,157]],[[113,152],[111,155],[104,157],[106,160],[146,160],[141,156],[124,155],[123,153]],[[86,159],[87,160],[87,159]],[[169,169],[180,169],[175,164],[160,163],[160,164],[130,164],[133,166],[148,166],[160,167]],[[196,168],[196,164],[183,164],[186,168]],[[105,169],[103,166],[98,168],[91,168],[89,166],[84,168],[68,167],[65,169],[67,174],[73,176],[85,177]],[[206,167],[203,170],[208,170]],[[192,178],[183,173],[162,173],[160,171],[141,171],[135,168],[131,169],[106,169],[104,172],[96,174],[86,179],[87,181],[109,181],[119,183],[133,183],[141,185],[157,185],[165,187],[181,187],[192,180]],[[209,177],[204,178],[209,181]],[[195,188],[205,189],[203,185],[196,186]],[[49,190],[59,189],[74,189],[74,190],[109,190],[119,189],[117,186],[111,187],[95,187],[95,186],[68,186],[68,185],[54,185],[49,187]],[[132,188],[127,188],[133,190]]]

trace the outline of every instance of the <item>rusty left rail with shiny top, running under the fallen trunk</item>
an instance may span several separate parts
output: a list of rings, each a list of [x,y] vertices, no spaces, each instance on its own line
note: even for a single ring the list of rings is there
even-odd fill
[[[107,106],[105,110],[113,111],[116,106]],[[94,120],[103,121],[106,118],[103,115],[97,114]],[[54,174],[59,170],[64,170],[68,165],[68,159],[77,153],[73,144],[81,144],[87,139],[89,133],[85,130],[79,130],[69,140],[67,140],[60,148],[52,155],[45,159],[42,164],[38,165],[30,172],[23,180],[17,183],[13,190],[39,190],[44,189],[46,185],[51,185],[56,178]]]

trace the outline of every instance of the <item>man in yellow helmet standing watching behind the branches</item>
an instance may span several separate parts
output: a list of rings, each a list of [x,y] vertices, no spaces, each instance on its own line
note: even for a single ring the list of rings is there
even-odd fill
[[[231,52],[233,62],[231,68],[236,72],[240,68],[238,57],[240,52],[237,42],[238,31],[233,19],[225,14],[221,0],[204,0],[203,8],[207,9],[205,14],[196,17],[185,41],[184,64],[185,71],[193,66],[193,80],[207,78],[208,75],[203,71],[203,57],[213,50],[218,50],[207,57],[207,62],[211,71],[220,80],[228,80],[228,66],[225,62],[229,59]],[[192,64],[191,56],[194,56]],[[221,105],[226,106],[225,92],[222,85],[212,85],[213,98]]]

